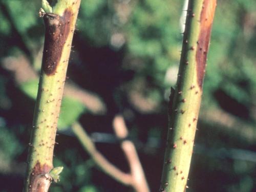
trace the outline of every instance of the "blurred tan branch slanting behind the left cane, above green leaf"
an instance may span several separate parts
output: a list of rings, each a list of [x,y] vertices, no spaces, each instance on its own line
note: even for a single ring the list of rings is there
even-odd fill
[[[4,69],[13,73],[17,84],[39,78],[35,70],[31,67],[29,60],[23,55],[18,57],[5,57],[1,60],[1,65]],[[64,94],[79,100],[93,114],[106,113],[105,104],[95,93],[83,90],[74,83],[66,83]]]

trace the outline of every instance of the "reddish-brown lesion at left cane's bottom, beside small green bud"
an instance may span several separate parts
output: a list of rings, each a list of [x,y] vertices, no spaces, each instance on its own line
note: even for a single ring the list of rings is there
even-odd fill
[[[32,169],[29,178],[29,192],[47,192],[50,184],[52,182],[52,178],[49,175],[50,167],[47,164],[41,165],[37,162]]]

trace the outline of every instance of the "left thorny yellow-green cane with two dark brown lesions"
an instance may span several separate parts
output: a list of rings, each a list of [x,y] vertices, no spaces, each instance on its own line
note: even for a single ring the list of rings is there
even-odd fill
[[[52,13],[41,13],[46,33],[29,146],[24,192],[48,191],[63,87],[80,0],[59,0]]]

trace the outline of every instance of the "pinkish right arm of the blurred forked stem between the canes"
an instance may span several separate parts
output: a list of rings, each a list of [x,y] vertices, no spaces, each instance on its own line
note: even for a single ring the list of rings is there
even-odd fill
[[[115,116],[113,120],[113,127],[114,127],[115,134],[119,139],[123,140],[128,136],[127,127],[125,126],[124,119],[121,115]],[[134,189],[136,191],[141,191],[141,192],[150,191],[133,142],[129,140],[123,140],[121,142],[121,148],[130,165]]]

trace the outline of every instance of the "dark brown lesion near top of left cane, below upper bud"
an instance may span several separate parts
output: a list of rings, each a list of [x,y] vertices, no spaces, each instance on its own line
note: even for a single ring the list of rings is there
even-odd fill
[[[71,31],[72,15],[71,9],[66,9],[63,16],[44,14],[46,30],[42,68],[47,75],[54,75],[59,65],[63,47]]]

